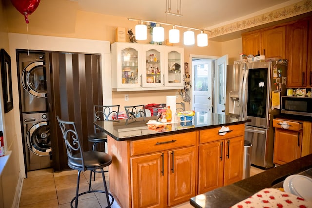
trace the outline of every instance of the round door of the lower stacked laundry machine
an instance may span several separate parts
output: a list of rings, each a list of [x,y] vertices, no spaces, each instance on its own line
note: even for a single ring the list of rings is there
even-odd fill
[[[47,121],[33,125],[26,136],[27,146],[39,156],[51,155],[50,126]]]

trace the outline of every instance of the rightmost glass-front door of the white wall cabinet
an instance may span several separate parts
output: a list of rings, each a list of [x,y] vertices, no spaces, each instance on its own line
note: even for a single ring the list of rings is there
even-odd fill
[[[165,66],[168,70],[165,74],[165,86],[183,86],[184,80],[184,51],[180,47],[165,48]]]

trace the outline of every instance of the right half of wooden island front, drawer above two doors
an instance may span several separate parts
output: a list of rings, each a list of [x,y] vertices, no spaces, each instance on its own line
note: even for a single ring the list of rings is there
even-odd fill
[[[199,131],[198,194],[239,181],[243,177],[244,126]]]

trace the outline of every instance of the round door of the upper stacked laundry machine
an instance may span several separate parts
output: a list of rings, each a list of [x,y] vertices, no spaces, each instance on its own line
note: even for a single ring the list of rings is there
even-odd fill
[[[33,96],[47,97],[47,82],[45,65],[43,61],[33,62],[26,66],[22,72],[23,88]]]

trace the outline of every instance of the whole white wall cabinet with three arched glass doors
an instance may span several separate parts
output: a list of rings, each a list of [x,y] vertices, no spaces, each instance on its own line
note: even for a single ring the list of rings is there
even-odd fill
[[[111,45],[112,90],[182,89],[182,47],[115,42]]]

